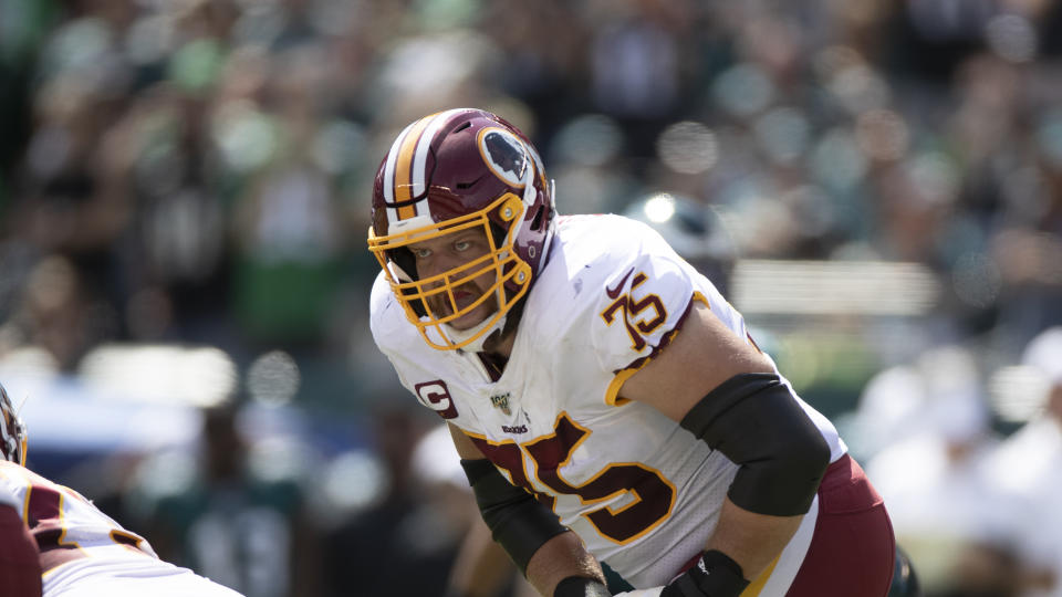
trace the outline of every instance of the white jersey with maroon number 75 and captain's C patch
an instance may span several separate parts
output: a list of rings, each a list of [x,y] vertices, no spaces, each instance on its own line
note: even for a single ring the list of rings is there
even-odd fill
[[[669,582],[704,549],[738,469],[659,411],[617,396],[694,301],[751,342],[741,315],[649,227],[571,216],[559,218],[500,376],[477,354],[429,347],[383,275],[373,287],[372,331],[420,402],[552,507],[594,556],[648,587]],[[843,455],[829,420],[800,404],[831,461]],[[784,587],[810,542],[812,510],[775,566]]]

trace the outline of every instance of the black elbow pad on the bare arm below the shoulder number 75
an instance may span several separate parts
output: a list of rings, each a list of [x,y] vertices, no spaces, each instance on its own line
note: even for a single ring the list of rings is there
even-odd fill
[[[727,496],[758,514],[808,512],[830,464],[822,433],[777,374],[727,379],[679,425],[740,467]]]

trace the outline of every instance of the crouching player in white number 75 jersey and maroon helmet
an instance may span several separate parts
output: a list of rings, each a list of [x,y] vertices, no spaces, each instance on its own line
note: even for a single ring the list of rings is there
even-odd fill
[[[558,217],[530,142],[418,119],[373,192],[372,331],[450,425],[542,595],[885,596],[895,542],[834,427],[647,226]]]

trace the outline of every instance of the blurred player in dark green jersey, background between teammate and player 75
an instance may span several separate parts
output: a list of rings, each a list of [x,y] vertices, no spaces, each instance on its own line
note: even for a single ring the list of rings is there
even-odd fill
[[[160,557],[247,597],[315,595],[316,541],[294,467],[281,463],[280,443],[271,474],[256,465],[254,450],[266,448],[240,428],[240,413],[236,402],[202,409],[199,450],[145,462],[143,528]]]

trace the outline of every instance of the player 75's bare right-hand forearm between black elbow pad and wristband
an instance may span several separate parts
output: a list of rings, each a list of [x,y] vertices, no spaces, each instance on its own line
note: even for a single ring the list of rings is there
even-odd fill
[[[754,580],[782,553],[803,516],[770,516],[743,510],[728,498],[705,549],[718,549]]]

